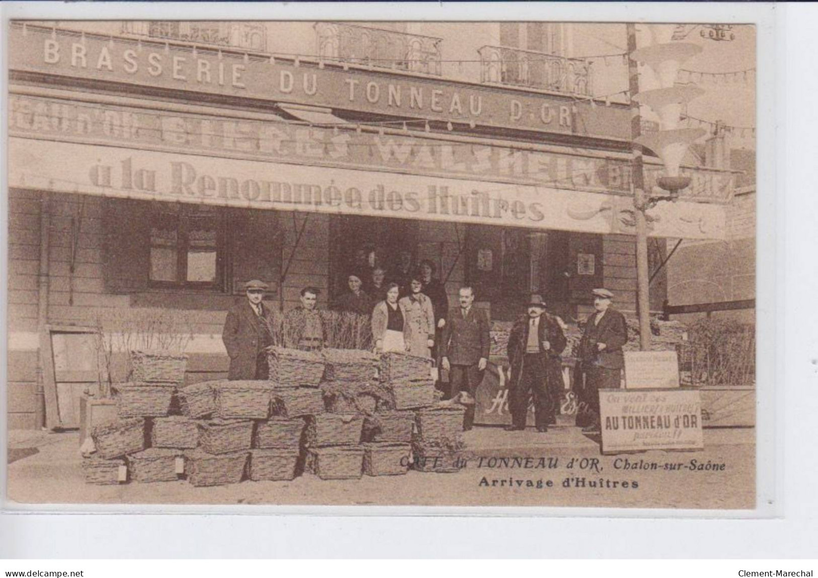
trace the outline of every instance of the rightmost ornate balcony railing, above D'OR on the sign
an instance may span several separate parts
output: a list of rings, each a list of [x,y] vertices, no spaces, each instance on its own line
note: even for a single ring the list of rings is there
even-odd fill
[[[591,96],[591,63],[544,52],[479,48],[480,82]]]

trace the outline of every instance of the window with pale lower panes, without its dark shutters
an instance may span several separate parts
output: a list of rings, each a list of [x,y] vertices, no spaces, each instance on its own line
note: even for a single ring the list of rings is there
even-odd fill
[[[151,285],[214,287],[222,259],[222,217],[213,208],[169,205],[151,218]]]

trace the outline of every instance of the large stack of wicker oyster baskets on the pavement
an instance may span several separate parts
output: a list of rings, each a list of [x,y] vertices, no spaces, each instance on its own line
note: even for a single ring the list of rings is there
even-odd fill
[[[92,430],[87,482],[217,486],[305,469],[326,480],[460,468],[464,410],[435,404],[429,360],[388,353],[376,376],[368,352],[271,348],[269,359],[269,380],[186,387],[158,379],[178,379],[178,365],[135,365],[133,375],[156,380],[117,387],[120,417]]]

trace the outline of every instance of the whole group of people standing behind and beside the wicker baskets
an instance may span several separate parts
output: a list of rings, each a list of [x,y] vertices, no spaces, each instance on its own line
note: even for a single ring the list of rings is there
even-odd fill
[[[421,262],[418,272],[407,275],[406,294],[402,285],[391,281],[384,298],[371,312],[371,328],[378,352],[409,352],[433,356],[448,372],[448,396],[466,405],[466,430],[474,423],[474,396],[488,365],[489,320],[486,311],[474,307],[474,289],[464,285],[458,292],[460,307],[449,309],[443,284],[434,279],[434,264]],[[348,276],[349,292],[339,302],[348,309],[369,298],[357,275]],[[267,379],[264,349],[272,344],[270,311],[262,299],[267,285],[253,280],[245,285],[247,299],[227,314],[222,339],[230,356],[228,379]],[[285,324],[297,325],[294,334],[285,334],[285,347],[315,350],[323,347],[321,316],[316,310],[319,290],[301,291],[298,307],[287,312]],[[431,293],[431,294],[429,294]],[[588,317],[578,351],[579,397],[582,410],[578,426],[583,431],[599,431],[599,390],[619,388],[622,375],[622,346],[627,343],[627,324],[622,313],[610,307],[613,293],[594,289],[595,312]],[[371,299],[369,301],[371,303]],[[367,308],[369,304],[367,304]],[[367,311],[367,308],[362,309]],[[508,343],[510,363],[509,410],[512,423],[506,430],[523,430],[529,400],[534,401],[535,425],[547,432],[556,422],[564,390],[561,354],[566,347],[565,325],[546,312],[541,295],[532,295],[527,315],[515,322]],[[582,421],[584,420],[584,421]]]

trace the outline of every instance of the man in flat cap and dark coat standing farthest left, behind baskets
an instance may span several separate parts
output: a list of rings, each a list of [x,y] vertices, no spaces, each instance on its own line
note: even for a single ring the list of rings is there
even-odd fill
[[[265,347],[272,345],[272,318],[264,305],[267,284],[258,279],[245,283],[247,298],[241,299],[224,321],[222,341],[230,356],[227,379],[267,379]]]

